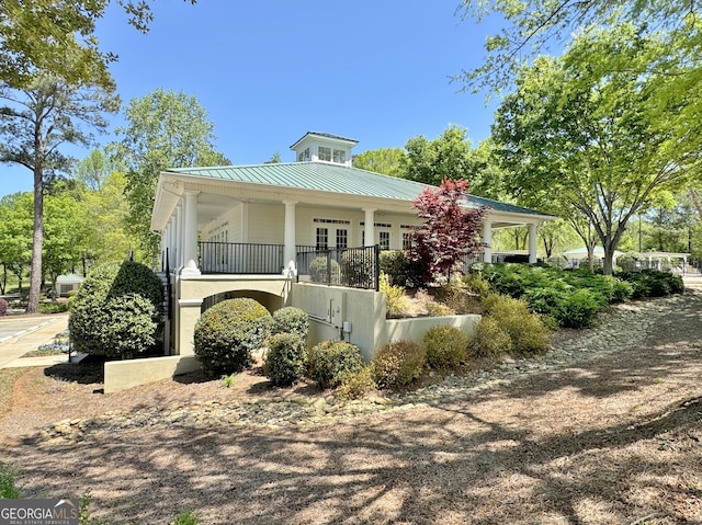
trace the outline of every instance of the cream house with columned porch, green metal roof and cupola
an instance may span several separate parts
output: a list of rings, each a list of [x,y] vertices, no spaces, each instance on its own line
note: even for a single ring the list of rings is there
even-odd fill
[[[373,313],[363,317],[366,311],[353,317],[360,303],[350,298],[350,290],[326,287],[326,296],[313,299],[310,288],[301,288],[295,277],[297,271],[307,273],[303,259],[308,252],[376,246],[400,250],[418,224],[412,201],[427,186],[353,168],[355,145],[310,132],[291,146],[295,162],[160,173],[151,229],[161,236],[163,269],[170,274],[172,353],[192,354],[201,312],[236,296],[253,297],[271,311],[301,305],[319,321],[320,338],[344,336],[346,321],[353,330],[349,339],[372,350],[377,338],[364,340],[359,323],[372,331],[376,320]],[[536,228],[554,217],[476,196],[466,205],[488,208],[485,261],[492,260],[492,231],[518,226],[529,227],[529,260],[536,261]]]

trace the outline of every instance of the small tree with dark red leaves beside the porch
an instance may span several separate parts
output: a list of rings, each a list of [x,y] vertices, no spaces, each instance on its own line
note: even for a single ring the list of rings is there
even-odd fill
[[[485,209],[466,206],[467,187],[465,180],[444,179],[439,187],[424,189],[412,203],[424,222],[412,230],[409,256],[430,276],[450,279],[464,258],[480,250]]]

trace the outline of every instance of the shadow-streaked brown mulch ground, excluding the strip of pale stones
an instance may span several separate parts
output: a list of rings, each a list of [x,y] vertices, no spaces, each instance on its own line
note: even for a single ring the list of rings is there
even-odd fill
[[[627,351],[310,430],[129,430],[42,447],[22,434],[47,408],[56,421],[65,407],[79,416],[218,387],[113,397],[27,373],[0,415],[2,460],[27,494],[90,491],[94,515],[114,523],[169,523],[184,509],[203,524],[702,523],[702,294],[686,296]],[[24,429],[21,413],[35,414]]]

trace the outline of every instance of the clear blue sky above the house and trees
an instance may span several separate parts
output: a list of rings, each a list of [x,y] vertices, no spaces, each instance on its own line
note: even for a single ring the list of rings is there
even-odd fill
[[[458,1],[158,0],[147,35],[112,7],[98,37],[120,56],[111,69],[124,103],[157,88],[196,96],[235,164],[276,151],[293,161],[290,146],[308,130],[359,140],[354,153],[435,138],[452,124],[477,144],[495,104],[450,79],[480,64],[496,28],[462,21]],[[111,122],[102,144],[121,116]],[[29,170],[0,164],[0,196],[31,189]]]

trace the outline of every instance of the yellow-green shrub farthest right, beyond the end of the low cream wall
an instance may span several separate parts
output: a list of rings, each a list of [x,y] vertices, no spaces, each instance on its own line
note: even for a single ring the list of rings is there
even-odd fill
[[[551,332],[541,318],[529,310],[525,301],[492,294],[485,299],[484,307],[509,334],[512,353],[533,354],[548,347]]]

